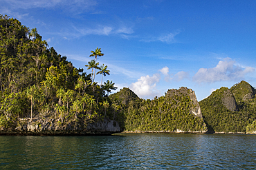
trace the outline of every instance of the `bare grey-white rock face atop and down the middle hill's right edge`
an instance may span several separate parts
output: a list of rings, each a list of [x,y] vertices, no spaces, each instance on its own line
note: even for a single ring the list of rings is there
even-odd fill
[[[170,89],[167,92],[168,97],[173,97],[174,95],[179,96],[181,94],[185,96],[190,96],[190,100],[192,100],[192,104],[194,105],[194,108],[190,108],[190,114],[194,114],[199,118],[203,118],[199,102],[196,99],[196,94],[192,89],[188,89],[187,87],[181,87],[179,89]]]

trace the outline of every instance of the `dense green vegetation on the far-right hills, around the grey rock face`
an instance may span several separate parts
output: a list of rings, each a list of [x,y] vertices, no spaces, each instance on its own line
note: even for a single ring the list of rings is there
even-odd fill
[[[223,105],[226,92],[230,90],[235,98],[237,110],[232,111]],[[199,102],[205,123],[210,131],[251,132],[256,120],[255,89],[245,81],[230,89],[221,87]],[[247,127],[248,126],[248,127]],[[248,130],[246,130],[246,127]],[[250,129],[250,131],[249,131]]]

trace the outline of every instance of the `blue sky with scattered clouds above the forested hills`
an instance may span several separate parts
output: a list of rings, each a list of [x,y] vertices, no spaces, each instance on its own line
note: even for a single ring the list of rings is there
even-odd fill
[[[1,0],[0,14],[37,28],[88,74],[100,47],[110,70],[103,81],[140,98],[183,86],[198,100],[240,81],[256,87],[256,1]]]

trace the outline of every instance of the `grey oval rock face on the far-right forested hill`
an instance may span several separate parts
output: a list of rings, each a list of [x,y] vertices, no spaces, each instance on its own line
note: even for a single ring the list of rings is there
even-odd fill
[[[223,92],[222,104],[226,106],[230,111],[238,111],[237,102],[235,101],[235,97],[233,96],[230,89],[226,89]]]

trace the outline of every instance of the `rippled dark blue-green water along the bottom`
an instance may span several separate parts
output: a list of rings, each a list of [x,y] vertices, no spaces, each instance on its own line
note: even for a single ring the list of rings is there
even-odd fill
[[[256,136],[0,136],[0,169],[256,169]]]

